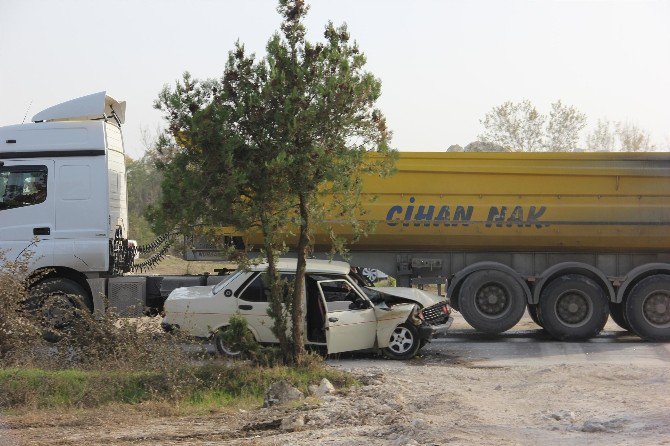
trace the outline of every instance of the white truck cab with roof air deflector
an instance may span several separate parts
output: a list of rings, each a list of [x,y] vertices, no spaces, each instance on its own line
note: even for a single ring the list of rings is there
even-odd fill
[[[127,238],[125,108],[100,92],[0,127],[5,261],[30,253],[31,270],[78,286],[91,308],[91,281],[115,274],[114,242]]]

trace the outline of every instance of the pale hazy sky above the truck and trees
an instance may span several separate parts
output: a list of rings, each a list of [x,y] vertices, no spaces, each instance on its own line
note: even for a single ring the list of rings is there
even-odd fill
[[[670,1],[312,0],[308,38],[346,22],[382,81],[402,151],[444,151],[505,101],[628,120],[670,150]],[[126,151],[163,125],[153,102],[184,71],[219,77],[236,40],[262,55],[273,0],[0,0],[0,125],[106,90],[127,101]]]

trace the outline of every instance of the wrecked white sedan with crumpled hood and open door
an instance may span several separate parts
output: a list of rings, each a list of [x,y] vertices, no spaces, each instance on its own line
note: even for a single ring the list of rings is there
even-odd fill
[[[220,334],[233,314],[244,316],[260,343],[276,343],[263,284],[266,264],[238,270],[214,286],[177,288],[164,307],[163,327],[178,327],[198,337],[214,336],[218,350],[235,355]],[[296,261],[282,259],[278,270],[293,280]],[[366,287],[349,264],[308,260],[304,308],[308,345],[328,353],[377,350],[408,359],[452,323],[447,301],[414,288]]]

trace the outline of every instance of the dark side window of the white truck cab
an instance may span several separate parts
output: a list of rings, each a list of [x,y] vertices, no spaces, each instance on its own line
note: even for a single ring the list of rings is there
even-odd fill
[[[32,206],[46,198],[46,166],[0,167],[0,210]]]

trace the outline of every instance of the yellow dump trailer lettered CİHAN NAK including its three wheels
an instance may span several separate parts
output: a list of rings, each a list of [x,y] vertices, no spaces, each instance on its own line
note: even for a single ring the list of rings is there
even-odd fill
[[[559,339],[592,337],[610,314],[670,340],[670,153],[405,152],[397,170],[365,179],[376,200],[363,218],[377,225],[352,264],[448,284],[489,333],[527,307]],[[316,244],[325,256],[327,235]]]

